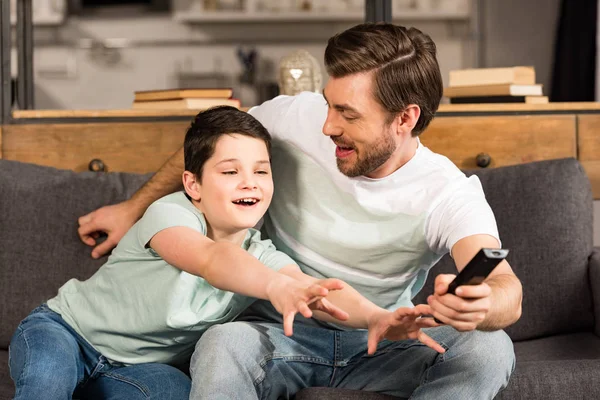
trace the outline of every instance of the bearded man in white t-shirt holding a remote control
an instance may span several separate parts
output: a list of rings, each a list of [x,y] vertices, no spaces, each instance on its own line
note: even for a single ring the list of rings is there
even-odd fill
[[[402,310],[443,254],[460,271],[482,247],[500,246],[494,215],[478,178],[418,139],[442,96],[429,36],[358,25],[329,40],[325,65],[322,96],[280,96],[249,111],[277,139],[264,227],[305,273],[343,279],[377,305],[399,309],[403,326],[415,317]],[[92,254],[108,251],[152,200],[175,190],[182,169],[179,152],[132,199],[82,217],[86,243],[94,245],[95,232],[109,235]],[[514,368],[502,329],[520,317],[521,285],[506,261],[456,295],[446,293],[453,278],[437,276],[427,299],[445,326],[423,329],[443,354],[388,335],[370,355],[365,331],[312,320],[286,337],[259,302],[244,321],[211,328],[198,342],[192,397],[276,399],[332,386],[414,399],[493,398]]]

